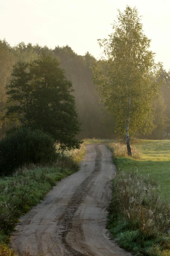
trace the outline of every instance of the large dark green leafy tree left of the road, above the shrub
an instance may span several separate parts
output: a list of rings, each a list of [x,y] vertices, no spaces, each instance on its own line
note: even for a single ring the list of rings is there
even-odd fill
[[[43,53],[37,60],[15,65],[12,75],[4,119],[48,132],[62,150],[79,148],[72,83],[59,68],[57,58]]]

